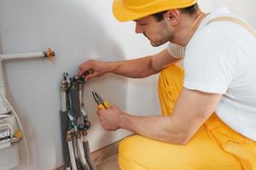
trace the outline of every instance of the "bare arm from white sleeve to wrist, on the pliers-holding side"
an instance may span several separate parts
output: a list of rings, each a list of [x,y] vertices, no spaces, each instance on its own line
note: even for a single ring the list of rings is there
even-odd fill
[[[119,127],[148,139],[187,144],[218,105],[221,94],[183,88],[172,116],[131,116],[122,113]]]

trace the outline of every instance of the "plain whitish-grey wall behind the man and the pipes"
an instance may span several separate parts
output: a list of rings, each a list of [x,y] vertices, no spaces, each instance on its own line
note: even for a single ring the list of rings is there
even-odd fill
[[[48,170],[62,164],[59,114],[64,71],[73,76],[86,59],[132,59],[160,50],[151,48],[142,35],[136,35],[132,22],[114,20],[111,3],[110,0],[0,0],[0,42],[4,54],[39,52],[48,47],[56,54],[53,62],[27,59],[5,63],[9,99],[26,130],[32,169]],[[255,26],[253,0],[235,3],[201,0],[199,3],[206,11],[229,6]],[[108,75],[85,85],[84,104],[92,123],[91,150],[129,134],[124,130],[113,133],[102,130],[91,89],[125,111],[150,115],[160,112],[156,83],[157,76],[132,80]],[[22,155],[25,158],[24,153]],[[24,160],[23,166],[16,169],[26,169]]]

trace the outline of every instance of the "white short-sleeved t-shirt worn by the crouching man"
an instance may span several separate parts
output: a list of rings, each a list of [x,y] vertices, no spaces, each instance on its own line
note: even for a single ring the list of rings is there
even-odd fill
[[[202,20],[186,47],[170,44],[167,50],[184,58],[183,87],[223,94],[218,117],[256,141],[256,38],[230,21],[207,25],[218,16],[236,17],[228,8],[218,8]]]

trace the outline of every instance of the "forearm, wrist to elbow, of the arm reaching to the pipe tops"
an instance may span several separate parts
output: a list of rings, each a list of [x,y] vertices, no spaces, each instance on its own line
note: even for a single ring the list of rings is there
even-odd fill
[[[109,61],[108,72],[132,78],[148,77],[158,72],[154,71],[151,62],[151,56],[123,61]]]

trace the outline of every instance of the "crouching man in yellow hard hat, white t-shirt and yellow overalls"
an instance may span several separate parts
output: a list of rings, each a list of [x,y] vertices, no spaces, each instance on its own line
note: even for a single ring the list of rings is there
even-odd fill
[[[98,111],[106,130],[137,135],[119,145],[122,170],[256,169],[256,39],[227,8],[204,14],[195,0],[113,0],[120,21],[134,20],[159,54],[88,60],[79,75],[143,78],[160,72],[162,116]],[[183,59],[183,68],[174,65]]]

